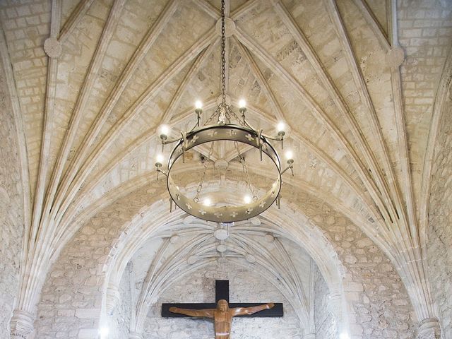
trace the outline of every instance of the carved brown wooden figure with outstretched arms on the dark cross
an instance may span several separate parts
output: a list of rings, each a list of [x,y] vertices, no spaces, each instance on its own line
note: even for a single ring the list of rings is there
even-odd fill
[[[243,316],[245,314],[254,314],[264,309],[271,309],[275,304],[270,302],[254,307],[234,307],[229,308],[225,299],[218,301],[216,309],[179,309],[170,307],[169,311],[173,313],[185,314],[186,316],[198,316],[213,319],[215,324],[215,339],[230,339],[231,323],[234,316]]]

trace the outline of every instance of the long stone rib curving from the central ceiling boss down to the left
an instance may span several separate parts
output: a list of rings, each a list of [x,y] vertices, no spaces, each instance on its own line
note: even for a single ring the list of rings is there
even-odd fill
[[[69,193],[65,194],[64,207],[61,209],[61,213],[64,213],[64,210],[67,208],[69,203],[71,203],[73,196],[76,195],[78,189],[80,188],[83,181],[88,177],[90,171],[93,169],[97,160],[99,160],[100,155],[102,155],[105,150],[112,144],[114,138],[117,138],[121,135],[121,131],[123,131],[127,124],[133,119],[133,117],[143,108],[145,102],[148,102],[151,97],[155,96],[160,88],[168,83],[174,76],[179,74],[184,67],[189,64],[189,62],[194,59],[203,49],[205,49],[209,44],[213,42],[215,39],[215,33],[208,31],[205,35],[203,35],[199,40],[195,42],[182,56],[180,56],[174,63],[169,66],[160,76],[148,86],[144,93],[138,97],[136,102],[134,102],[129,109],[123,114],[121,119],[109,129],[108,133],[102,141],[98,143],[95,148],[91,151],[90,156],[83,164],[81,169],[76,173],[76,177],[73,182],[70,183]]]

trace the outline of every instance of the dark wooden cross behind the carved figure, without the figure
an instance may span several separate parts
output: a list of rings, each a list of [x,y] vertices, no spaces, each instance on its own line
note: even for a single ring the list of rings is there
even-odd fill
[[[217,307],[218,300],[225,299],[229,303],[229,280],[215,280],[215,304],[214,303],[198,303],[198,304],[162,304],[162,317],[164,318],[189,318],[184,314],[177,314],[169,311],[169,307],[179,307],[181,309],[215,309]],[[252,303],[238,303],[233,302],[229,304],[232,309],[234,307],[251,307],[265,304],[265,302],[252,302]],[[275,307],[271,309],[264,309],[263,311],[255,314],[246,314],[241,317],[265,317],[275,318],[284,316],[283,304],[275,303]]]

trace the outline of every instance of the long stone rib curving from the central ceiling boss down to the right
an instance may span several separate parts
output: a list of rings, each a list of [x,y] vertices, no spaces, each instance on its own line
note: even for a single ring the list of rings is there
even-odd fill
[[[343,136],[343,133],[340,132],[333,121],[331,121],[331,119],[326,116],[321,107],[319,107],[314,99],[312,99],[312,97],[310,97],[309,94],[306,93],[304,88],[302,88],[302,86],[295,80],[295,78],[293,78],[293,76],[291,76],[290,73],[288,73],[283,68],[283,66],[278,63],[278,61],[275,61],[273,57],[271,57],[270,54],[266,52],[265,49],[259,46],[256,42],[253,42],[245,32],[240,30],[240,28],[237,28],[236,34],[240,42],[251,49],[251,51],[253,51],[259,57],[259,59],[261,59],[270,69],[273,69],[275,73],[278,73],[283,79],[285,79],[285,81],[290,83],[295,90],[297,90],[297,93],[300,95],[300,97],[305,100],[304,102],[306,103],[307,107],[309,107],[309,109],[311,109],[311,111],[315,113],[315,116],[320,121],[322,121],[323,124],[325,124],[325,126],[329,131],[331,131],[332,135],[335,137],[338,143],[340,143],[343,150],[345,150],[350,155],[350,159],[355,163],[355,169],[359,173],[359,176],[364,182],[364,185],[367,186],[367,189],[376,202],[377,206],[380,206],[379,211],[383,215],[383,217],[385,217],[384,219],[391,220],[392,218],[390,218],[388,211],[386,210],[386,204],[383,202],[383,198],[379,194],[379,189],[377,188],[374,181],[369,177],[367,169],[365,169],[361,160],[359,160],[359,157],[356,154],[355,150],[353,150],[352,146],[347,141],[347,138]],[[357,133],[359,134],[359,131],[357,131]]]

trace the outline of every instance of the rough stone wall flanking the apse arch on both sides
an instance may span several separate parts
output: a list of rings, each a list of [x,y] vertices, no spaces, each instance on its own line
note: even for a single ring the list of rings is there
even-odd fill
[[[36,323],[37,338],[54,338],[57,333],[65,338],[96,338],[107,255],[126,222],[141,213],[143,206],[150,203],[149,197],[156,195],[157,184],[151,182],[153,187],[137,189],[112,203],[86,222],[67,244],[47,275]],[[353,310],[350,337],[413,338],[410,299],[382,251],[323,201],[290,187],[286,190],[293,206],[301,206],[303,213],[319,226],[343,262],[345,297]],[[284,204],[287,206],[287,202]],[[287,218],[297,218],[290,209],[284,213]],[[147,331],[150,328],[149,324]]]

